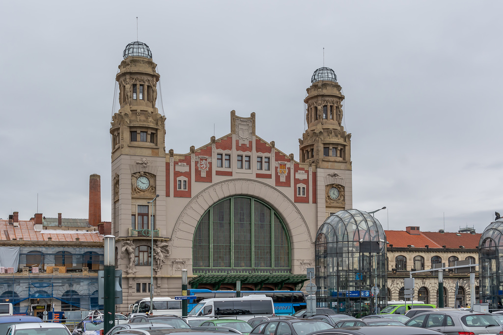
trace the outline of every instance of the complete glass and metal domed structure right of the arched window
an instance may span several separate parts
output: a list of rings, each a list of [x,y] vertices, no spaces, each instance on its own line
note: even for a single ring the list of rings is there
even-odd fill
[[[315,263],[318,307],[337,305],[339,313],[370,314],[373,286],[380,291],[378,305],[386,305],[386,235],[369,213],[348,209],[330,215],[316,235]]]

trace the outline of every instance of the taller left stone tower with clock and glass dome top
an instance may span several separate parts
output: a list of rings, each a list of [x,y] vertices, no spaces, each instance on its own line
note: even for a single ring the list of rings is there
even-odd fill
[[[128,274],[146,275],[150,273],[145,264],[151,262],[150,231],[156,240],[166,235],[166,118],[155,107],[159,74],[148,46],[138,41],[129,43],[123,57],[116,75],[120,109],[112,117],[110,128],[112,234],[116,236],[117,253],[120,256],[123,250],[124,254],[119,268]],[[149,202],[156,194],[160,197]]]

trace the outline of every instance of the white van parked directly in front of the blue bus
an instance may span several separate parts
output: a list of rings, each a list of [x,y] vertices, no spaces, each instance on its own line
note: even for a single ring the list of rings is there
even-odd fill
[[[271,297],[265,294],[248,295],[241,298],[211,298],[198,303],[189,313],[189,317],[232,317],[247,321],[256,316],[274,315]]]

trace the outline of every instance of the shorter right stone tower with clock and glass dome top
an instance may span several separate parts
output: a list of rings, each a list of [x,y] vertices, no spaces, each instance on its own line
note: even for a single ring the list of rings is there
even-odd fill
[[[300,161],[316,167],[324,176],[327,214],[352,208],[351,197],[351,134],[342,126],[344,95],[332,69],[321,67],[314,71],[307,88],[307,130],[299,139]]]

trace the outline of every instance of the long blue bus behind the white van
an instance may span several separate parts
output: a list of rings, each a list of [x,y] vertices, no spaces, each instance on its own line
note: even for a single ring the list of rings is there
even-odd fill
[[[241,296],[265,294],[273,298],[274,313],[277,315],[292,315],[298,310],[306,308],[306,297],[302,291],[241,291]],[[209,298],[233,298],[236,291],[212,291],[208,289],[189,289],[187,295],[195,295],[196,299],[188,301],[188,312],[201,300]]]

